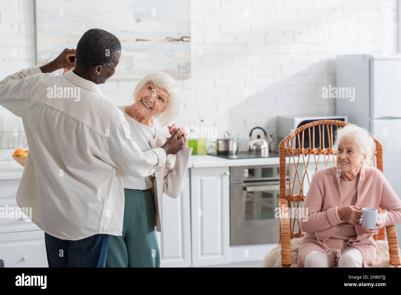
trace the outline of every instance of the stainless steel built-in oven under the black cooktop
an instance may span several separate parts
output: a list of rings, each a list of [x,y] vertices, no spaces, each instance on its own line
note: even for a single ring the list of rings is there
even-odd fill
[[[277,243],[279,165],[230,168],[230,244]]]

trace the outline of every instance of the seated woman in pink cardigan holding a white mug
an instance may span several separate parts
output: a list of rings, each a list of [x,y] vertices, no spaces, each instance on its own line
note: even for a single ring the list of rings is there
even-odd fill
[[[371,267],[378,228],[401,222],[401,201],[383,173],[371,167],[375,146],[369,133],[356,125],[338,129],[336,166],[317,171],[305,196],[307,218],[298,251],[298,267]],[[377,228],[362,226],[362,208],[381,208]],[[304,211],[302,211],[304,212]]]

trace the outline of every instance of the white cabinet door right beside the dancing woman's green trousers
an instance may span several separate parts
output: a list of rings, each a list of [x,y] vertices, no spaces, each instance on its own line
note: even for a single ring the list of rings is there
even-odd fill
[[[160,267],[191,266],[191,220],[189,170],[187,170],[184,190],[176,198],[163,194],[160,212],[162,232],[157,232],[160,248]]]

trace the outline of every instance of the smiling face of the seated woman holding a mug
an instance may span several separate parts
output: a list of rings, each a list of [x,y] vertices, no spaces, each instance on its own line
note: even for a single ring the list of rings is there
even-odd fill
[[[337,168],[342,173],[358,171],[365,157],[361,158],[360,149],[353,137],[341,137],[338,143]]]

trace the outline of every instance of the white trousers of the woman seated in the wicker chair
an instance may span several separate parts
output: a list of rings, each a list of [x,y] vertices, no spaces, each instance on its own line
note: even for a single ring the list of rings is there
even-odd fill
[[[312,250],[304,259],[304,267],[362,267],[363,256],[357,248],[330,248],[328,253]]]

